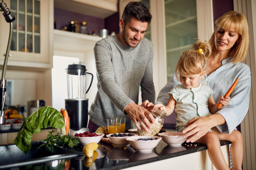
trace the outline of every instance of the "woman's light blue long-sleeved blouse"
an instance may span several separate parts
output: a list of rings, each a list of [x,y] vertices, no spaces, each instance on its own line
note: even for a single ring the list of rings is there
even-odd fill
[[[217,126],[221,133],[231,133],[244,119],[248,109],[251,89],[251,72],[248,65],[241,62],[234,64],[230,59],[232,56],[221,61],[221,67],[210,75],[205,75],[204,83],[215,91],[213,98],[217,102],[221,95],[225,95],[233,82],[239,78],[234,91],[230,95],[230,102],[219,110],[226,123]],[[169,100],[168,92],[174,86],[180,84],[175,75],[161,89],[157,102],[166,105]]]

